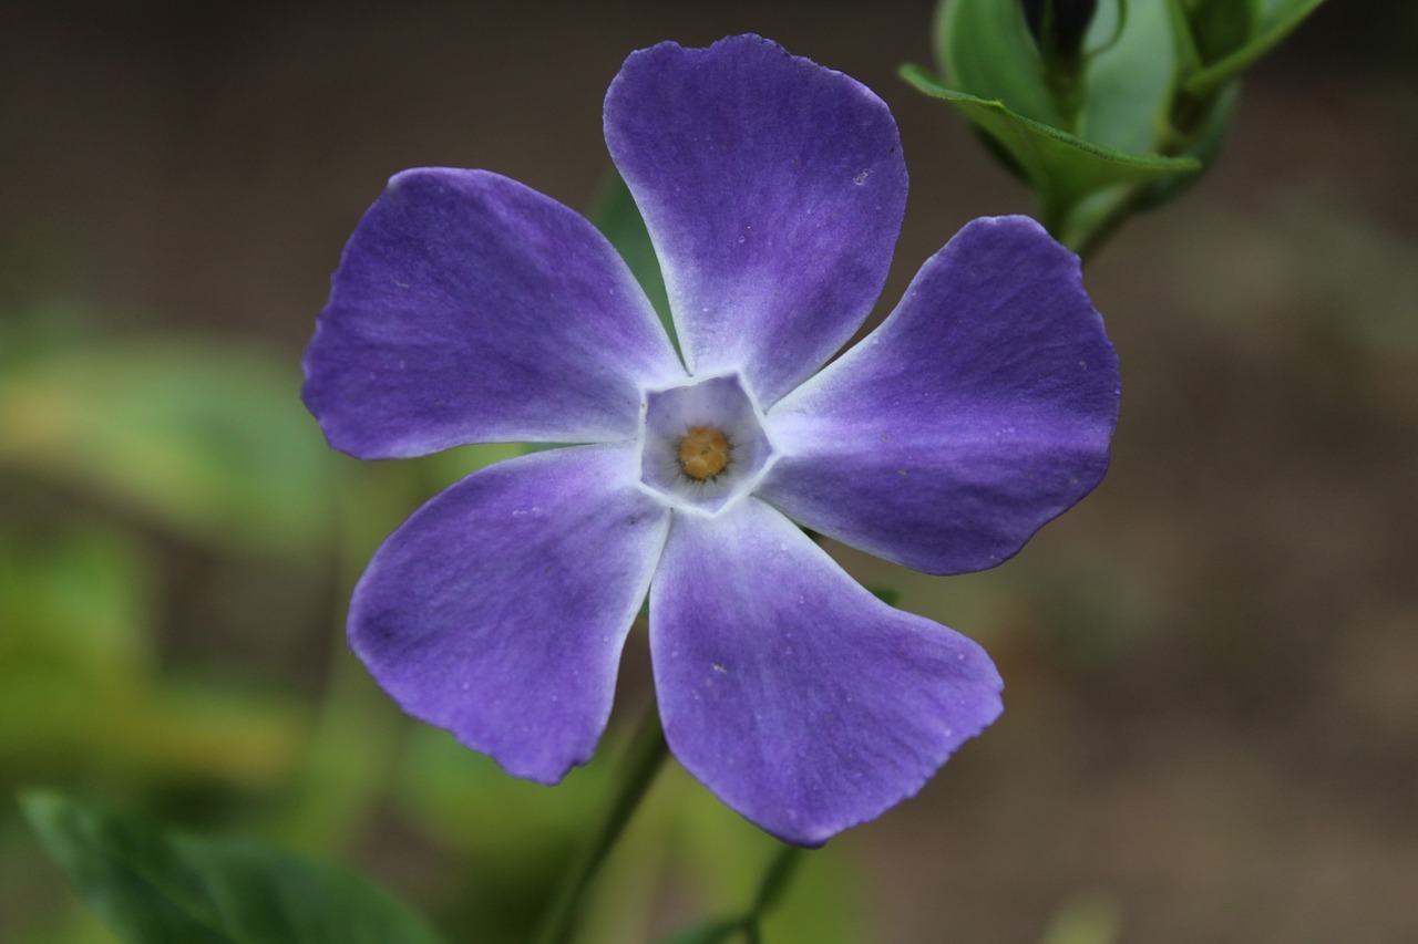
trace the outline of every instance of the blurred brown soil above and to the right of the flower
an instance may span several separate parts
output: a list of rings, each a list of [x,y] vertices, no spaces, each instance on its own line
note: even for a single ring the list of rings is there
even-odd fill
[[[6,264],[113,333],[254,336],[295,371],[391,173],[486,167],[587,207],[625,54],[754,31],[896,113],[912,194],[885,313],[964,221],[1031,210],[895,77],[929,62],[930,17],[7,3],[0,244],[41,247]],[[1039,940],[1073,903],[1126,941],[1418,941],[1415,40],[1407,4],[1329,3],[1248,81],[1210,177],[1090,262],[1124,381],[1092,498],[990,574],[844,551],[986,642],[1008,686],[917,799],[838,841],[872,940]]]

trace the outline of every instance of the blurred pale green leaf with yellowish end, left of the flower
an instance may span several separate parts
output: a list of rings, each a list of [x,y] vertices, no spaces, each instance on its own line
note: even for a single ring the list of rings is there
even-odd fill
[[[238,344],[126,342],[0,377],[0,463],[75,482],[223,547],[308,557],[332,456],[299,376]]]

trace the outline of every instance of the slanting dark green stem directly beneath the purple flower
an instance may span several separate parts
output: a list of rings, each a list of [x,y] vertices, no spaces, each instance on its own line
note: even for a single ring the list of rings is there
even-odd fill
[[[556,897],[552,899],[552,904],[542,918],[542,927],[533,938],[536,944],[566,944],[571,940],[576,913],[586,896],[586,889],[591,884],[605,856],[615,846],[621,832],[625,831],[625,824],[630,822],[635,807],[640,805],[651,781],[655,780],[661,761],[668,754],[665,733],[659,727],[659,712],[655,704],[651,704],[621,758],[620,784],[611,797],[611,805],[605,809],[591,841],[562,879]]]

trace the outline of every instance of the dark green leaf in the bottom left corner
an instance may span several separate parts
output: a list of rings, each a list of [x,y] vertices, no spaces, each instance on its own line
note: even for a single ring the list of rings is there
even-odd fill
[[[60,794],[24,814],[79,896],[133,944],[434,944],[367,880],[262,846],[164,832]]]

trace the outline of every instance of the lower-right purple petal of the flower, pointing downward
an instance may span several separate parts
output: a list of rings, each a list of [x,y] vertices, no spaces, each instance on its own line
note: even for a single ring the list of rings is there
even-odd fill
[[[801,846],[916,794],[1003,710],[984,649],[881,602],[753,498],[675,516],[649,642],[671,751]]]

